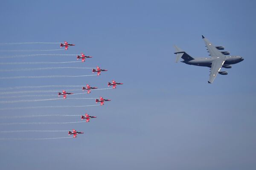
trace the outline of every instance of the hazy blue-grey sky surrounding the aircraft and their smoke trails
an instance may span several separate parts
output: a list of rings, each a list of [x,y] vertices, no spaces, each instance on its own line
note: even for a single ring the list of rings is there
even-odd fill
[[[256,169],[256,22],[254,1],[204,0],[8,0],[0,5],[0,43],[63,42],[0,45],[0,57],[20,54],[80,54],[93,58],[67,64],[0,65],[1,69],[96,67],[101,76],[45,79],[1,79],[0,91],[16,86],[86,85],[108,88],[79,98],[103,96],[104,106],[0,110],[0,116],[89,113],[89,123],[0,125],[3,130],[81,130],[76,139],[0,140],[0,169],[93,170],[253,170]],[[173,45],[192,57],[207,57],[201,35],[223,45],[244,61],[228,75],[208,84],[209,68],[175,63]],[[4,50],[11,50],[9,52]],[[1,58],[0,62],[65,62],[76,56]],[[91,69],[0,72],[0,77],[90,75]],[[74,91],[72,91],[74,89]],[[29,93],[32,94],[32,93]],[[28,95],[29,95],[28,94]],[[33,93],[35,94],[35,93]],[[47,93],[49,94],[49,93]],[[0,98],[1,101],[51,97]],[[26,94],[16,94],[26,95]],[[2,94],[1,96],[8,96]],[[14,94],[10,95],[14,96]],[[68,96],[73,98],[74,96]],[[0,103],[1,108],[95,105],[94,99]],[[76,122],[80,116],[0,119],[8,122]],[[66,137],[67,132],[1,133],[0,138]]]

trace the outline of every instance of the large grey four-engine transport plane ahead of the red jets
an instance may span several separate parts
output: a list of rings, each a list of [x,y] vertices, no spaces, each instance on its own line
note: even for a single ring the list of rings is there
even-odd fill
[[[210,68],[210,77],[208,80],[208,83],[212,83],[214,79],[216,78],[217,74],[221,75],[227,75],[227,71],[220,71],[221,68],[231,68],[232,64],[239,63],[243,61],[244,59],[240,56],[230,56],[230,52],[227,51],[219,51],[224,50],[223,46],[215,46],[209,40],[207,40],[203,35],[202,38],[205,42],[205,45],[207,47],[207,52],[209,52],[209,56],[211,57],[205,57],[205,58],[193,58],[189,56],[185,51],[178,48],[176,45],[174,46],[176,49],[177,58],[176,62],[180,60],[180,58],[184,59],[184,62],[189,65],[197,65],[197,66],[204,66]],[[225,56],[227,55],[227,56]]]

